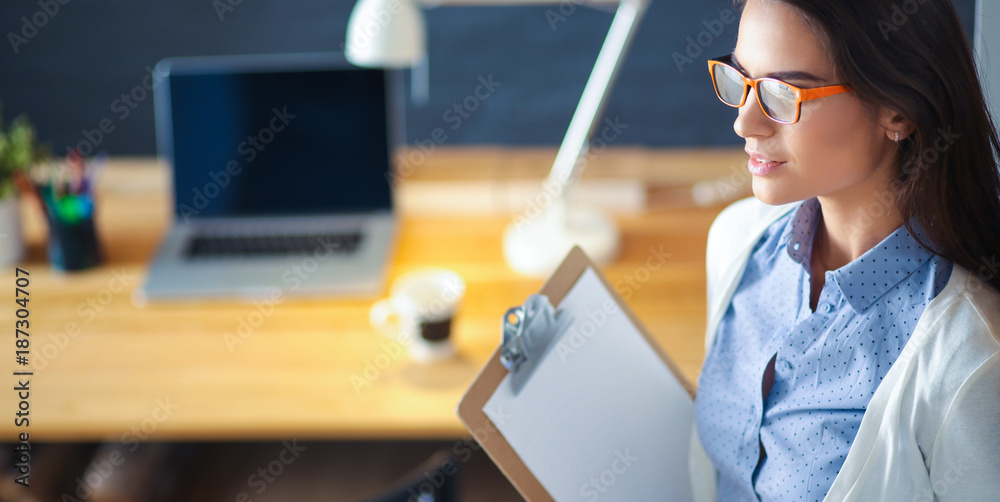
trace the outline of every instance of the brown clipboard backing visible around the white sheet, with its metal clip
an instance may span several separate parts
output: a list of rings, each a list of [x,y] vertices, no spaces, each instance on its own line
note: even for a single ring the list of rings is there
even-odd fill
[[[591,273],[588,271],[593,271],[593,272]],[[541,481],[539,477],[536,476],[536,473],[529,468],[528,463],[524,459],[522,459],[522,457],[518,454],[518,452],[515,449],[515,446],[513,446],[511,442],[508,441],[508,438],[505,437],[504,433],[501,432],[501,427],[499,427],[497,424],[493,422],[493,420],[490,419],[490,417],[487,415],[485,408],[487,406],[487,403],[490,402],[491,398],[495,394],[498,394],[498,389],[500,389],[503,382],[507,381],[508,385],[511,385],[511,389],[514,388],[513,377],[507,379],[509,375],[512,375],[512,372],[520,371],[525,368],[527,368],[529,372],[532,372],[534,370],[534,366],[531,365],[532,358],[535,359],[533,361],[535,364],[541,364],[540,362],[541,360],[545,360],[546,358],[550,357],[555,357],[553,355],[555,353],[553,352],[553,344],[561,343],[558,340],[560,340],[561,336],[565,335],[565,330],[569,319],[569,316],[567,316],[567,314],[571,314],[570,312],[560,312],[560,306],[563,304],[564,299],[567,297],[567,295],[574,289],[574,286],[576,286],[578,282],[582,282],[585,274],[587,275],[587,277],[590,278],[589,279],[590,282],[588,282],[588,284],[591,285],[599,284],[600,286],[603,286],[604,290],[606,290],[605,293],[610,295],[610,298],[613,299],[617,308],[620,309],[619,311],[624,314],[625,320],[627,320],[628,323],[635,328],[635,331],[638,332],[638,336],[641,336],[641,340],[639,340],[636,343],[642,345],[641,342],[644,341],[649,349],[647,352],[653,354],[653,356],[651,357],[661,362],[663,364],[663,367],[669,371],[671,377],[675,379],[677,384],[680,385],[681,389],[680,392],[682,393],[686,392],[687,394],[686,397],[690,398],[691,400],[690,404],[691,415],[692,415],[691,420],[693,421],[693,397],[695,394],[694,386],[691,385],[691,383],[684,378],[684,376],[681,374],[676,365],[666,356],[666,354],[655,342],[655,340],[649,335],[648,331],[646,331],[645,327],[643,327],[642,324],[639,322],[635,314],[631,311],[631,309],[628,308],[628,305],[626,305],[624,300],[622,300],[622,298],[618,295],[618,293],[607,281],[607,279],[600,273],[600,270],[591,262],[591,260],[586,256],[586,254],[584,254],[584,252],[579,247],[574,247],[567,255],[567,257],[564,259],[559,268],[556,270],[556,272],[548,279],[548,281],[546,281],[545,285],[539,292],[540,295],[542,295],[540,298],[542,299],[547,298],[548,301],[551,302],[551,308],[554,310],[554,312],[549,311],[548,315],[550,317],[547,320],[541,322],[541,324],[547,325],[549,330],[554,331],[552,333],[549,333],[549,335],[552,336],[552,339],[549,340],[549,343],[547,345],[544,344],[540,345],[538,343],[534,343],[536,342],[535,340],[529,340],[528,341],[529,343],[518,344],[518,338],[516,337],[517,333],[514,332],[516,330],[512,329],[511,326],[512,324],[516,325],[518,323],[523,323],[525,317],[528,317],[529,318],[528,320],[531,320],[532,314],[539,314],[541,310],[544,310],[543,309],[544,306],[539,305],[540,300],[539,297],[536,297],[536,295],[532,295],[532,297],[528,299],[529,301],[526,302],[525,305],[520,307],[520,311],[518,310],[518,308],[514,308],[511,309],[511,311],[508,311],[507,315],[503,319],[504,327],[507,330],[507,332],[505,332],[504,343],[501,343],[501,345],[490,356],[490,359],[487,362],[486,366],[483,367],[483,369],[480,371],[479,375],[476,377],[475,381],[466,391],[465,395],[462,397],[457,407],[458,416],[465,425],[465,427],[472,433],[475,439],[479,442],[480,446],[486,451],[486,453],[490,456],[493,462],[511,481],[514,487],[520,492],[520,494],[526,500],[529,500],[531,502],[554,501],[556,499],[549,492],[549,490],[546,489],[545,484],[543,484],[543,481]],[[596,278],[599,281],[598,283],[593,282],[594,275],[596,275]],[[531,305],[533,302],[535,303],[535,305]],[[535,309],[535,311],[529,312],[531,309]],[[559,319],[559,315],[553,316],[553,314],[560,314],[563,317],[562,319]],[[520,317],[515,318],[518,316]],[[535,319],[537,319],[537,317],[535,317]],[[524,327],[523,324],[521,324],[521,326]],[[530,328],[530,326],[527,327]],[[521,334],[523,335],[524,333]],[[535,353],[539,350],[541,351],[541,354]],[[520,354],[519,351],[521,352]],[[516,359],[518,359],[519,357],[523,359],[520,361],[521,364],[517,364],[518,361],[516,361]],[[515,369],[509,371],[508,367]],[[552,373],[549,372],[547,373],[547,375],[551,376]],[[530,376],[528,377],[528,379],[530,379]],[[567,391],[570,391],[570,389],[567,389]],[[510,392],[510,391],[503,391],[503,392]],[[540,406],[548,406],[548,404],[541,404]],[[555,412],[558,412],[558,410],[555,410]],[[663,427],[664,428],[669,427],[669,424],[663,424]],[[684,431],[685,437],[689,438],[691,430],[690,423],[686,424],[684,427],[686,428],[686,430]],[[606,427],[598,427],[598,428],[606,429]],[[596,430],[591,432],[593,434],[600,435],[603,431]],[[653,435],[658,434],[658,431],[656,430],[648,432]],[[675,453],[680,453],[680,452],[664,452],[664,455],[675,454]],[[682,459],[682,461],[686,466],[687,464],[686,446],[683,448],[683,454],[684,458]],[[558,456],[559,452],[555,452],[554,455]],[[622,457],[620,452],[618,457],[625,458]],[[612,462],[614,462],[613,459]],[[611,465],[620,466],[625,464],[619,462],[618,464],[612,463]],[[537,463],[535,467],[536,470],[540,470],[538,469],[539,466]],[[619,472],[619,471],[615,469],[614,472]],[[687,469],[685,467],[683,476],[685,486],[687,487],[685,489],[690,490],[690,487],[687,486],[688,484],[686,481],[687,478],[686,473]],[[581,475],[585,476],[586,473],[581,473]],[[620,473],[619,474],[619,477],[621,479],[620,482],[621,483],[629,482],[630,480],[625,479],[627,476],[628,476],[627,471],[625,471],[624,473]],[[612,476],[612,478],[614,478],[614,476]],[[607,479],[608,478],[599,478],[600,482],[604,482]],[[617,478],[611,480],[613,482],[618,481]],[[591,478],[591,481],[593,481],[593,478]],[[595,486],[598,489],[601,488],[599,485]],[[588,492],[586,492],[586,490],[587,487],[582,486],[581,494],[584,495],[587,494]],[[663,499],[665,496],[666,494],[660,494],[656,498]],[[563,498],[567,497],[564,495]],[[580,496],[580,497],[574,496],[572,498],[576,500],[588,499],[588,497],[585,496]],[[597,497],[595,497],[594,500],[596,500],[596,498]]]

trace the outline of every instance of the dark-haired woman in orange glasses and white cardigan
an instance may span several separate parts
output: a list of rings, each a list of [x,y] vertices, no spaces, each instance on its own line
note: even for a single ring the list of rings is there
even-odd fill
[[[954,8],[742,4],[709,67],[756,198],[709,234],[694,491],[995,500],[1000,141]]]

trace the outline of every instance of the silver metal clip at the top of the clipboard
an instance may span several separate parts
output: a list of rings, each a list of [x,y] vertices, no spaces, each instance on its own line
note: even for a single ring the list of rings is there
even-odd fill
[[[545,295],[531,295],[524,305],[512,307],[503,316],[500,364],[510,372],[517,395],[531,378],[553,342],[573,323],[573,314],[556,310]]]

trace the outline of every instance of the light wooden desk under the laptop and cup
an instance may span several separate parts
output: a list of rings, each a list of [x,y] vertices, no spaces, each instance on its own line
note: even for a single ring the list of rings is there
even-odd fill
[[[467,173],[470,161],[489,164],[494,174],[505,165],[527,166],[541,179],[553,155],[549,149],[442,150],[406,183]],[[628,165],[629,176],[663,182],[668,168],[679,166],[675,181],[687,183],[726,176],[744,158],[740,151],[625,150],[607,152],[593,171]],[[50,271],[41,218],[24,201],[31,350],[43,359],[30,384],[32,440],[467,436],[455,405],[496,348],[503,312],[541,286],[503,263],[508,215],[403,215],[390,279],[443,266],[467,281],[454,326],[461,357],[421,366],[386,349],[387,340],[369,327],[371,298],[286,299],[259,317],[258,307],[237,302],[134,306],[130,295],[144,281],[168,222],[166,179],[166,170],[151,160],[114,162],[98,193],[105,264],[70,275]],[[621,283],[628,303],[692,380],[703,357],[705,238],[720,209],[620,218],[623,253],[604,271],[613,284]],[[2,277],[11,287],[13,270]],[[14,320],[10,298],[0,308],[8,327]],[[224,333],[235,333],[251,315],[263,322],[243,343],[227,344]],[[5,339],[2,401],[13,403],[13,337]],[[12,440],[15,410],[4,408],[0,437]]]

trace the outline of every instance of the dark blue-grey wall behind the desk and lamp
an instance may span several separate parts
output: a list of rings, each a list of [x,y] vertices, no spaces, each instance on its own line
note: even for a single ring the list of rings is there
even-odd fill
[[[228,4],[223,2],[237,5],[220,16],[217,6]],[[122,101],[123,94],[144,94],[136,88],[147,67],[167,56],[340,50],[353,5],[353,0],[3,0],[4,116],[30,114],[56,151],[89,136],[112,154],[152,154],[152,98]],[[730,0],[653,0],[607,109],[608,117],[627,126],[617,144],[742,143],[732,130],[734,112],[717,102],[704,65],[735,43],[737,23],[715,22],[726,19],[721,11],[730,5]],[[955,5],[971,27],[974,0]],[[37,30],[25,32],[23,17]],[[442,127],[448,144],[555,145],[611,13],[562,0],[552,6],[442,7],[427,11],[426,18],[430,98],[407,108],[411,142]],[[711,44],[693,63],[678,66],[673,54],[683,53],[689,37],[706,31],[705,23],[722,32],[703,34],[701,41]],[[27,43],[16,38],[22,33],[30,35],[23,39]],[[475,111],[460,124],[460,115],[447,114],[474,94],[480,78],[490,76],[500,85],[475,102]],[[102,120],[110,132],[96,131]]]

